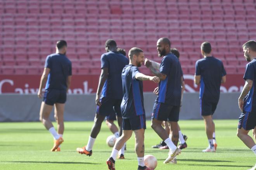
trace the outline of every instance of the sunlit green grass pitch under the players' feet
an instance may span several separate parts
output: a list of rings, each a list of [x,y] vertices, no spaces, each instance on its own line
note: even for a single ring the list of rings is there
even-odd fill
[[[151,148],[161,139],[147,121],[145,155],[157,158],[157,170],[246,170],[256,163],[254,153],[236,136],[237,120],[215,120],[216,153],[201,152],[208,146],[202,120],[182,120],[179,124],[182,132],[188,136],[188,148],[182,150],[182,154],[177,156],[178,164],[173,165],[163,164],[167,149]],[[0,170],[105,170],[112,148],[106,144],[111,132],[104,123],[95,141],[93,155],[88,157],[76,152],[77,147],[87,143],[92,125],[93,122],[65,122],[61,152],[50,152],[53,139],[40,122],[0,123]],[[132,136],[127,142],[125,160],[116,161],[117,170],[137,170],[134,143]]]

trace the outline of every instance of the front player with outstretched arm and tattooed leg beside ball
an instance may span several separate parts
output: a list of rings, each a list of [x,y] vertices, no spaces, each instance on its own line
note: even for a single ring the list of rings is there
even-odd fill
[[[138,159],[138,170],[150,170],[144,163],[144,132],[146,129],[146,117],[143,101],[142,81],[150,80],[158,83],[158,77],[146,76],[139,72],[144,62],[144,52],[140,48],[131,48],[129,51],[130,63],[122,72],[123,100],[121,111],[123,117],[123,134],[114,145],[107,165],[110,170],[115,170],[115,161],[119,149],[130,139],[132,132],[135,133],[135,152]]]

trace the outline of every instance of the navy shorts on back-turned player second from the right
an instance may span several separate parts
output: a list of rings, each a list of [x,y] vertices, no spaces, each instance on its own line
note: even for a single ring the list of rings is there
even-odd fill
[[[202,116],[213,115],[216,110],[218,102],[209,102],[200,99],[200,111]]]

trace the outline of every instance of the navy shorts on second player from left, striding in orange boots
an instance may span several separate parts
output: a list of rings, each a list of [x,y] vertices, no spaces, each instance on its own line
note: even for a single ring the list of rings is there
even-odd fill
[[[96,113],[102,116],[117,115],[122,116],[121,103],[122,99],[100,98],[101,106],[97,106]]]

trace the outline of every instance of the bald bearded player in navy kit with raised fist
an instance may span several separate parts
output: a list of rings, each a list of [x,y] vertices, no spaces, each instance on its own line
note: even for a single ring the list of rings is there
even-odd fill
[[[158,39],[158,56],[164,56],[160,65],[160,70],[156,70],[152,66],[150,60],[145,63],[146,67],[161,80],[159,82],[159,94],[154,103],[151,127],[170,149],[168,158],[166,158],[164,163],[170,162],[181,152],[181,150],[173,144],[172,140],[175,143],[178,143],[182,69],[178,58],[171,53],[170,48],[171,43],[168,38]],[[172,140],[162,127],[162,122],[167,120],[169,120],[171,124]]]

